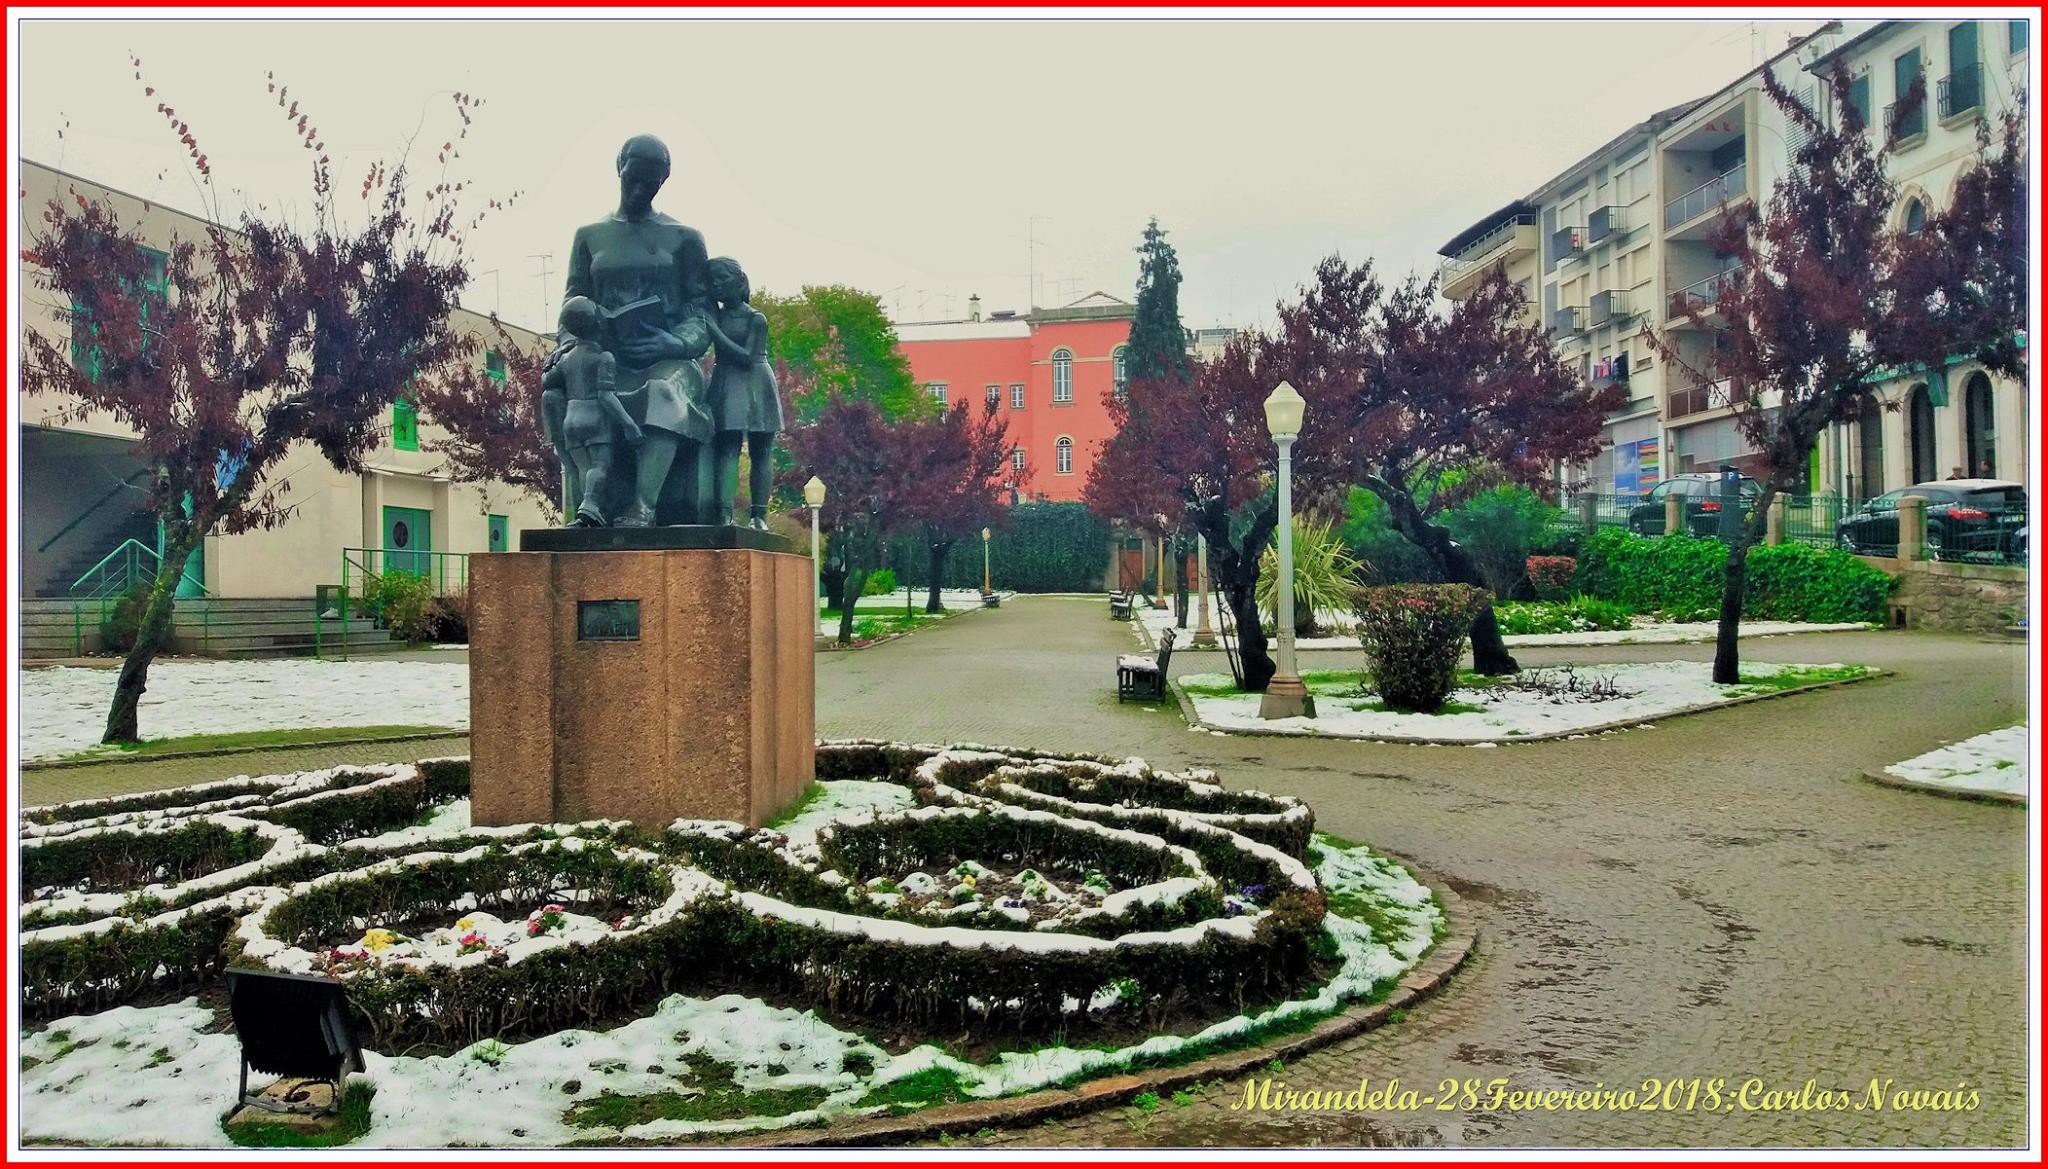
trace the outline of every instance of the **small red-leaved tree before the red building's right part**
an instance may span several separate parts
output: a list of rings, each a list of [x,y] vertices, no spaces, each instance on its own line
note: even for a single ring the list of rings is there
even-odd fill
[[[938,586],[952,545],[981,528],[1010,522],[1004,506],[1010,481],[1010,422],[999,412],[977,412],[967,401],[930,420],[897,422],[901,450],[901,524],[918,530],[932,557],[926,612],[944,612]]]

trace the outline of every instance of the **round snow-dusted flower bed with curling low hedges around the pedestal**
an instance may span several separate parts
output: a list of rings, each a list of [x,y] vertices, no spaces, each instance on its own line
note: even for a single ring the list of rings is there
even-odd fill
[[[825,743],[819,774],[780,829],[633,837],[471,829],[461,760],[43,809],[45,825],[82,827],[37,848],[270,846],[242,872],[178,872],[162,899],[74,889],[123,901],[25,936],[29,1015],[53,1020],[20,1036],[27,1132],[221,1138],[184,1085],[233,1065],[215,1013],[227,964],[340,979],[379,1052],[360,1142],[461,1142],[492,1124],[494,1142],[559,1144],[874,1116],[1184,1060],[1384,993],[1442,927],[1397,866],[1313,837],[1298,800],[1208,772]],[[381,800],[414,788],[432,819],[387,827]],[[166,1001],[186,993],[201,997]],[[55,1020],[72,1011],[88,1013]]]

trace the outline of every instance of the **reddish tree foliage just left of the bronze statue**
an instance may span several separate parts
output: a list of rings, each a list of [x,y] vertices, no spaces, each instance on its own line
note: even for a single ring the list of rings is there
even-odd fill
[[[498,334],[492,352],[504,358],[502,377],[475,362],[455,362],[422,375],[412,387],[414,405],[440,430],[426,434],[424,446],[442,457],[457,483],[483,491],[504,483],[561,516],[561,452],[541,420],[543,354],[528,352],[496,319],[492,328]]]

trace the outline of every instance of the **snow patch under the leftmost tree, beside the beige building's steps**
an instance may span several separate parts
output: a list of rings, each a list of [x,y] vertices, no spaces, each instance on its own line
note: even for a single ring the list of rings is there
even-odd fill
[[[20,755],[84,751],[106,729],[115,669],[57,665],[20,674]],[[469,727],[461,661],[158,661],[141,696],[152,739],[293,727]]]

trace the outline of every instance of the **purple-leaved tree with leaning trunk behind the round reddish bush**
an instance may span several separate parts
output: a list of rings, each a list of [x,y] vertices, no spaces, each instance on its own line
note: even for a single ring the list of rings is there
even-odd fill
[[[1499,270],[1448,311],[1438,305],[1434,278],[1386,289],[1370,262],[1331,258],[1262,346],[1274,379],[1309,399],[1317,442],[1294,454],[1305,497],[1341,514],[1350,487],[1364,485],[1444,579],[1485,588],[1436,518],[1499,483],[1544,487],[1552,465],[1597,452],[1622,393],[1567,366]],[[1473,665],[1518,669],[1491,604],[1473,620]]]

